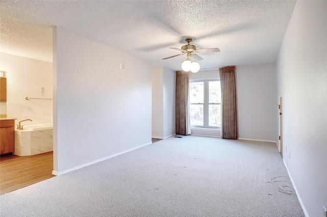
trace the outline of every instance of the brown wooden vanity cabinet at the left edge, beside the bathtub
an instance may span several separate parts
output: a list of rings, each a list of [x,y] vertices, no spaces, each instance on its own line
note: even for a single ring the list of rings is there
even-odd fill
[[[0,120],[0,154],[15,151],[15,120]]]

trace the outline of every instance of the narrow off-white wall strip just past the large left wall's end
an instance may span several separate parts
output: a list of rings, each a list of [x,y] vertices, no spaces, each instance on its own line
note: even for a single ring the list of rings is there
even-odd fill
[[[164,70],[162,66],[152,67],[152,138],[164,139]]]

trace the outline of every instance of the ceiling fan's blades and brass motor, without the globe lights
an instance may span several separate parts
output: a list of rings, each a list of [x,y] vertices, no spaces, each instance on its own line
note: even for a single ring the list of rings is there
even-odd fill
[[[167,60],[167,59],[170,59],[170,58],[173,58],[173,57],[178,57],[178,56],[181,56],[181,55],[184,55],[185,53],[187,53],[188,59],[191,59],[192,56],[195,56],[194,59],[196,59],[197,61],[200,61],[200,60],[203,60],[203,58],[199,57],[197,55],[197,53],[220,52],[219,48],[205,48],[205,49],[198,49],[197,50],[195,45],[190,44],[190,42],[192,41],[192,38],[186,38],[185,41],[188,42],[188,44],[183,45],[181,47],[181,49],[175,48],[175,47],[170,47],[170,49],[179,50],[182,53],[180,53],[179,55],[166,57],[166,58],[164,58],[162,60]]]

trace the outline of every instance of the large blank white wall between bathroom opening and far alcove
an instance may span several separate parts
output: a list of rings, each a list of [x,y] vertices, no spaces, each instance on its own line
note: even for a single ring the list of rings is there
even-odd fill
[[[151,144],[151,64],[61,28],[53,36],[54,173]]]

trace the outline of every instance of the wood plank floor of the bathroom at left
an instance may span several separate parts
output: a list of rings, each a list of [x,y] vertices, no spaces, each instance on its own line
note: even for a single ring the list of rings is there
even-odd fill
[[[0,157],[0,194],[54,177],[53,151],[32,156]]]

